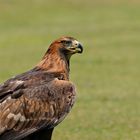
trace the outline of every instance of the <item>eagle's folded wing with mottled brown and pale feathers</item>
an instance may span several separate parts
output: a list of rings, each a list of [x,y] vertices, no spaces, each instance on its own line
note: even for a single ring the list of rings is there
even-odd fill
[[[19,140],[42,128],[53,128],[75,101],[71,82],[42,72],[29,74],[30,78],[25,75],[0,87],[1,140]]]

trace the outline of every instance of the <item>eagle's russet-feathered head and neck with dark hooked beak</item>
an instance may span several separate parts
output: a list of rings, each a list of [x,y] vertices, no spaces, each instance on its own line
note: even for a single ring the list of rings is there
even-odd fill
[[[51,43],[37,68],[49,72],[66,73],[68,79],[70,58],[73,54],[82,53],[83,47],[73,37],[61,37]]]

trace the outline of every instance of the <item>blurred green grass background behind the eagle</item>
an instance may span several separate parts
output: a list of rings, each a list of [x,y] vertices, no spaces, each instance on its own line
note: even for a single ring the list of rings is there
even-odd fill
[[[77,102],[53,140],[140,139],[139,0],[0,0],[0,82],[32,68],[64,35]]]

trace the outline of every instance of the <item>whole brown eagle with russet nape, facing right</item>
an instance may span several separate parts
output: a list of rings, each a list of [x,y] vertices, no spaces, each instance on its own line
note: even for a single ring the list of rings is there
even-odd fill
[[[61,37],[33,69],[0,85],[0,140],[51,140],[75,102],[70,58],[82,52],[75,38]]]

